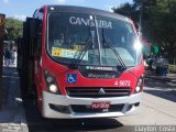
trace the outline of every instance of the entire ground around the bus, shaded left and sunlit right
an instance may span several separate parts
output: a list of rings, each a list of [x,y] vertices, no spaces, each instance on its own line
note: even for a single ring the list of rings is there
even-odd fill
[[[176,125],[176,84],[145,79],[141,112],[112,119],[43,119],[32,99],[21,100],[15,68],[3,69],[4,107],[0,111],[0,132],[133,132],[138,125]]]

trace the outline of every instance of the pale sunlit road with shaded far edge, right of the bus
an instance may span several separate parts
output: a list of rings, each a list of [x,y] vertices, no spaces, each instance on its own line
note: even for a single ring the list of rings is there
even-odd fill
[[[124,125],[176,125],[176,84],[146,79],[144,91],[140,114],[118,118],[118,121]]]

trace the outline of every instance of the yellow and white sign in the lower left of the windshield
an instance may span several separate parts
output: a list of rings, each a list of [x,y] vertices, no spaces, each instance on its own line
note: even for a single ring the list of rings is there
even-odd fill
[[[65,48],[59,48],[59,47],[53,47],[52,48],[52,56],[66,57],[66,58],[78,58],[80,52],[78,52],[77,50],[65,50]],[[88,52],[86,52],[82,59],[88,61]]]

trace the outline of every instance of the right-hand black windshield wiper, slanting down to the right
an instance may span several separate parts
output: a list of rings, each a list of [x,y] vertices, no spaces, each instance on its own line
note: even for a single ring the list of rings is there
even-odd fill
[[[116,56],[118,57],[121,66],[117,66],[118,69],[120,69],[121,72],[127,69],[127,66],[123,62],[123,59],[121,58],[121,56],[119,55],[119,53],[117,52],[117,50],[114,48],[114,46],[112,45],[112,43],[110,42],[110,40],[108,40],[105,35],[105,31],[102,29],[102,36],[103,36],[103,43],[105,43],[105,48],[106,48],[106,43],[110,46],[110,48],[112,50],[112,52],[116,54]]]

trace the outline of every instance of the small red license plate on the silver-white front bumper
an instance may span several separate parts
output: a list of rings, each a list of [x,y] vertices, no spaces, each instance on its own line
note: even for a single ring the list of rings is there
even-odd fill
[[[92,102],[91,109],[108,109],[110,107],[110,102]]]

